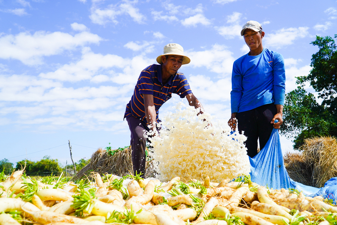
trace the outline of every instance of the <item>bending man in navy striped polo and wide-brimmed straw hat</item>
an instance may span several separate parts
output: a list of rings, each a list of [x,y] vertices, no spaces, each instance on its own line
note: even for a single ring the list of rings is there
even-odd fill
[[[178,44],[168,44],[164,54],[157,57],[160,65],[153,64],[145,68],[138,78],[130,102],[126,105],[124,118],[131,131],[131,148],[133,172],[136,175],[145,174],[146,131],[157,132],[159,108],[171,98],[172,93],[181,98],[186,97],[189,105],[203,107],[192,93],[188,81],[178,70],[181,65],[188,64],[190,59],[184,55],[183,48]]]

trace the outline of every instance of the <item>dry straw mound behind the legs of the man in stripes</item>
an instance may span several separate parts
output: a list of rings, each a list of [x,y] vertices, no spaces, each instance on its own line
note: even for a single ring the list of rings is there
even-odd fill
[[[103,176],[105,173],[117,176],[133,175],[130,146],[124,150],[116,150],[110,155],[106,150],[99,148],[95,151],[90,159],[90,163],[84,166],[73,179],[82,179],[84,176],[89,177],[92,172],[97,172]],[[155,174],[152,161],[146,162],[145,177],[153,177]]]

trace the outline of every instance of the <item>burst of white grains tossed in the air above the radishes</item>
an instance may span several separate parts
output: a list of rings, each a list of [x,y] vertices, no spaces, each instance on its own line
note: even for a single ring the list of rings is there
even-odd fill
[[[154,148],[149,154],[154,158],[158,178],[169,181],[173,177],[202,179],[206,174],[212,181],[250,172],[249,158],[243,142],[246,137],[230,134],[230,128],[223,128],[212,121],[208,113],[179,102],[174,113],[162,121],[160,137],[146,135]],[[212,123],[213,126],[208,126]],[[235,140],[233,138],[235,137]]]

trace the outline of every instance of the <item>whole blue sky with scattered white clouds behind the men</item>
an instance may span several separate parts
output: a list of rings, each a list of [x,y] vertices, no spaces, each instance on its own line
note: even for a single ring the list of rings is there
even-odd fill
[[[49,155],[65,165],[68,140],[75,161],[129,145],[125,105],[168,43],[183,46],[191,63],[179,72],[214,123],[226,123],[248,20],[262,24],[264,47],[283,55],[289,92],[310,72],[318,50],[310,42],[337,33],[337,1],[0,0],[0,159]]]

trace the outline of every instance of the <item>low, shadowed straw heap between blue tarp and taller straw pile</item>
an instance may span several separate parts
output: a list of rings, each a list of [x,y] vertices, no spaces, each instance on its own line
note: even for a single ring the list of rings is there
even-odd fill
[[[291,179],[304,185],[310,185],[311,172],[307,170],[307,165],[301,152],[287,152],[283,156],[283,160],[284,167]]]

